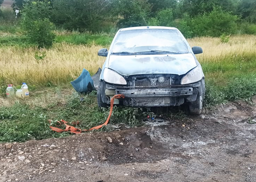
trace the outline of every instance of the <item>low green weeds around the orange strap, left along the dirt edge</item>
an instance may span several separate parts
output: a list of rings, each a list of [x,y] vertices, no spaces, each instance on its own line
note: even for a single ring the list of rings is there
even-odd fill
[[[58,94],[58,93],[57,93]],[[11,107],[0,107],[0,142],[24,142],[29,139],[45,139],[71,135],[68,132],[51,131],[48,119],[64,119],[68,122],[80,121],[77,126],[89,129],[105,122],[109,110],[100,111],[96,102],[96,92],[83,96],[77,93],[69,96],[65,106],[51,103],[46,107],[31,108],[25,103],[15,103]],[[110,123],[125,123],[128,126],[141,126],[147,112],[140,108],[114,108]],[[55,126],[55,123],[53,125]],[[64,126],[62,126],[64,129]],[[103,127],[99,131],[107,131]]]

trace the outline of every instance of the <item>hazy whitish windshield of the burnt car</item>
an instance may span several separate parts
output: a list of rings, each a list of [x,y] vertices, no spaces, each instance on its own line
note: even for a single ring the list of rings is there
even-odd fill
[[[112,54],[188,53],[188,47],[177,30],[142,29],[120,31]]]

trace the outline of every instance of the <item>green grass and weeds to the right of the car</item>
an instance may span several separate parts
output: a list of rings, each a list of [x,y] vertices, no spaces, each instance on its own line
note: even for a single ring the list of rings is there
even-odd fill
[[[256,95],[256,54],[226,55],[202,64],[206,80],[205,106]]]

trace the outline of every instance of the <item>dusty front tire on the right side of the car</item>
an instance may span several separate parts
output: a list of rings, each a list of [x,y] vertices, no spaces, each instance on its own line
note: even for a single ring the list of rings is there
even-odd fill
[[[204,81],[205,80],[201,81],[201,86],[199,87],[199,93],[196,100],[189,104],[189,112],[192,115],[200,115],[202,113],[205,97],[205,84],[203,84]]]

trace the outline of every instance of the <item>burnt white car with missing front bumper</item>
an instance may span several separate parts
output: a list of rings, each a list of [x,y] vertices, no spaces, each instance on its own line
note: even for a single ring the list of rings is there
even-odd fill
[[[116,94],[116,105],[132,107],[180,106],[188,104],[191,114],[201,114],[205,77],[195,54],[177,28],[141,26],[120,29],[106,56],[97,90],[100,108]]]

